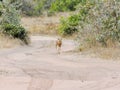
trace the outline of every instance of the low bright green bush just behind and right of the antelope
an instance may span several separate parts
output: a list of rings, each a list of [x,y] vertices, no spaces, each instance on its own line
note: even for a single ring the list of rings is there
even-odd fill
[[[79,15],[72,15],[70,17],[61,18],[61,24],[59,27],[59,33],[61,35],[72,35],[73,33],[77,32],[77,25],[79,24],[80,17]]]

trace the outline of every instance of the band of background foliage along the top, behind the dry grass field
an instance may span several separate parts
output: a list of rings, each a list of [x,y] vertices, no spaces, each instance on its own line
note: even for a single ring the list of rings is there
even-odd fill
[[[6,0],[3,0],[6,2]],[[17,9],[21,8],[22,14],[27,16],[39,16],[46,12],[48,15],[54,12],[75,11],[79,3],[87,0],[7,0],[14,3]],[[20,8],[19,8],[20,7]]]

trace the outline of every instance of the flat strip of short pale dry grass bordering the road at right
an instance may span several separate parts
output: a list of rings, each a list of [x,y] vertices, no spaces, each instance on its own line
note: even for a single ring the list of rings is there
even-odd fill
[[[87,55],[94,58],[101,58],[105,60],[120,60],[120,48],[119,47],[92,47],[84,49],[83,55]]]

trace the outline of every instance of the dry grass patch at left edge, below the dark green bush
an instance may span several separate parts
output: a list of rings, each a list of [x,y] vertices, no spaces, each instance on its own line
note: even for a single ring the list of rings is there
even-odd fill
[[[18,39],[13,39],[3,34],[0,34],[0,49],[16,47],[21,44],[22,42]]]

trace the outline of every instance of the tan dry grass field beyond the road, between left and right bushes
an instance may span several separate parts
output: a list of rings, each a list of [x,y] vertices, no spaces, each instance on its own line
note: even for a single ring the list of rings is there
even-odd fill
[[[57,34],[59,17],[24,17],[22,18],[22,25],[32,35],[35,34]]]

